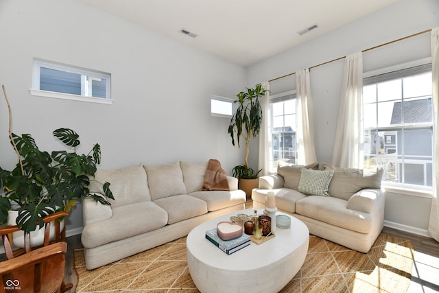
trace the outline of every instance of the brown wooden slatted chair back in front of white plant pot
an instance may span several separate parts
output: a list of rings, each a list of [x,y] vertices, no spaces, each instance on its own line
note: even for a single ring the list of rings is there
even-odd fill
[[[48,247],[51,244],[56,244],[56,243],[60,243],[60,242],[64,242],[64,244],[65,244],[65,239],[66,239],[65,227],[62,230],[60,229],[60,221],[58,221],[58,219],[62,218],[62,217],[66,217],[67,215],[69,215],[69,214],[64,212],[64,211],[60,211],[58,213],[47,215],[45,218],[43,218],[44,223],[45,223],[44,224],[45,233],[44,233],[43,247]],[[52,240],[50,240],[51,226],[54,226],[54,231],[55,231],[55,237]],[[21,255],[27,255],[27,254],[31,253],[31,250],[33,249],[30,246],[29,233],[24,233],[25,248],[19,248],[16,250],[13,249],[13,244],[12,244],[13,233],[16,231],[20,231],[20,229],[17,226],[3,226],[2,228],[0,228],[1,242],[3,243],[3,247],[5,248],[6,261],[10,261],[16,257],[20,257]],[[66,246],[67,246],[67,244],[66,244]],[[40,248],[37,248],[37,249],[40,249]],[[4,263],[4,262],[5,261],[0,262],[0,263]],[[64,265],[62,266],[62,270],[60,270],[60,272],[62,272],[62,275],[64,276]],[[60,292],[66,292],[67,290],[70,290],[71,288],[73,288],[73,284],[71,284],[71,283],[66,284],[66,283],[64,283],[64,281],[62,281]],[[1,284],[0,284],[0,289],[1,289]],[[1,292],[1,290],[0,290],[0,292]],[[10,291],[8,291],[8,292],[10,292]]]

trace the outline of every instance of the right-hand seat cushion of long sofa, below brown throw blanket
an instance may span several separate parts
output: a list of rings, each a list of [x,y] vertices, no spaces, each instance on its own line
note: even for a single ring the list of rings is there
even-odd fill
[[[217,211],[226,207],[233,207],[236,204],[246,202],[246,193],[242,190],[234,191],[195,191],[189,194],[195,198],[200,198],[207,204],[208,211]]]

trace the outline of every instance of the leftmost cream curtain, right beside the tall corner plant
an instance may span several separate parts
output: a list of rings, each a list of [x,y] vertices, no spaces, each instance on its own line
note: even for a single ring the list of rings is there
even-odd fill
[[[262,97],[262,123],[259,130],[259,165],[258,170],[262,169],[261,175],[268,175],[272,170],[273,162],[270,154],[273,150],[272,128],[270,119],[270,83],[263,82],[262,88],[267,90]]]

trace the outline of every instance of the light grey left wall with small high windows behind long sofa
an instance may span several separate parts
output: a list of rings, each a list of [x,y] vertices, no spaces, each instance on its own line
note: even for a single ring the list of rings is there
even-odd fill
[[[73,0],[1,0],[0,45],[12,130],[32,134],[43,150],[58,150],[51,132],[67,127],[80,134],[80,153],[101,145],[101,169],[215,158],[230,174],[242,161],[228,137],[230,120],[210,115],[210,97],[244,89],[244,67]],[[114,103],[30,95],[33,58],[111,73]],[[0,97],[0,166],[10,169],[16,156]],[[77,207],[67,229],[81,226]]]

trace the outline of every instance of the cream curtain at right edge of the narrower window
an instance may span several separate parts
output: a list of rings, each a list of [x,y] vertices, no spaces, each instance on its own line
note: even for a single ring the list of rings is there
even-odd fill
[[[309,69],[296,72],[296,139],[298,165],[317,162],[313,138],[313,100],[309,84]]]

